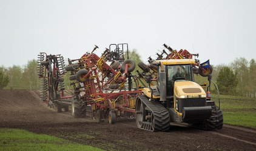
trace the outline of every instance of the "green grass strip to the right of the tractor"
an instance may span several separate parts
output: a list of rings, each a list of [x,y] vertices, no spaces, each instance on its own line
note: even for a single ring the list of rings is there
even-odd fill
[[[212,100],[218,104],[217,95]],[[220,108],[224,123],[256,128],[256,98],[220,95]]]

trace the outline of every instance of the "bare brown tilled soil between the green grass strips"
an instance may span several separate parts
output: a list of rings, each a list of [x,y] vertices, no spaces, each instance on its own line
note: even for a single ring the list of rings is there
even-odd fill
[[[0,91],[0,127],[25,129],[105,150],[256,150],[256,130],[224,124],[206,131],[171,124],[169,132],[149,132],[136,127],[134,118],[116,124],[96,123],[57,113],[39,100],[36,91]]]

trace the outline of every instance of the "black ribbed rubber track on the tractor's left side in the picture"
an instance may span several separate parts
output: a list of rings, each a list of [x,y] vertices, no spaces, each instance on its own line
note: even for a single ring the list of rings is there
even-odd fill
[[[155,118],[155,129],[152,129],[152,123],[148,121],[143,121],[143,126],[140,129],[150,130],[150,131],[167,131],[170,128],[170,117],[169,112],[160,103],[160,101],[149,101],[145,95],[140,96],[141,101],[146,104],[147,108],[153,113]]]

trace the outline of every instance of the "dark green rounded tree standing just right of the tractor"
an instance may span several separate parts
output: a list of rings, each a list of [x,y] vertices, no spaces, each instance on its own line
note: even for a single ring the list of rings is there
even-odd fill
[[[220,94],[235,94],[235,88],[238,84],[237,75],[227,66],[220,69],[217,77],[217,85]]]

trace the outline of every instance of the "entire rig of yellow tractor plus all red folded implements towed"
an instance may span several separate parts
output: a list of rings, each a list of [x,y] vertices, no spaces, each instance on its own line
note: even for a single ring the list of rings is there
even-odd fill
[[[164,47],[170,53],[163,50],[157,59],[149,57],[149,65],[139,62],[142,72],[137,70],[136,75],[132,74],[136,65],[129,59],[127,43],[110,45],[101,57],[94,53],[98,48],[95,45],[92,53],[69,59],[68,65],[60,55],[41,53],[38,61],[41,100],[50,107],[56,106],[58,112],[62,108],[68,111],[71,105],[74,118],[90,115],[101,122],[108,117],[111,124],[116,123],[118,116],[133,113],[140,129],[153,132],[169,130],[170,122],[221,129],[221,109],[194,82],[194,74],[200,74],[208,76],[211,85],[209,61],[200,63],[192,59],[198,54],[172,50],[165,44]],[[64,96],[63,75],[68,71],[73,95]],[[208,91],[209,87],[207,94]]]

